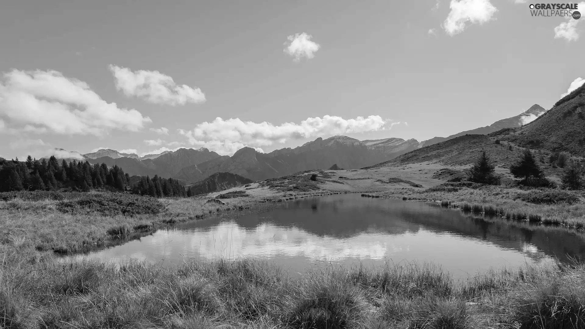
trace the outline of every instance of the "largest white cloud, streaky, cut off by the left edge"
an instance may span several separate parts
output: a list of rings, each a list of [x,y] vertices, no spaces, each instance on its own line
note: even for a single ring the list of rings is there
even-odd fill
[[[0,116],[10,125],[61,134],[104,135],[111,129],[138,131],[150,118],[102,100],[83,81],[57,71],[4,73],[0,80]]]

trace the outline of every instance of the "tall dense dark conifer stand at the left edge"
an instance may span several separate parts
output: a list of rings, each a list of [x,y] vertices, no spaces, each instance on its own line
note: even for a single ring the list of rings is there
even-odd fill
[[[91,165],[85,161],[62,160],[56,157],[49,160],[33,159],[27,156],[25,162],[0,158],[0,191],[21,190],[59,190],[72,188],[89,191],[90,189],[108,189],[125,191],[129,185],[129,176],[121,167],[109,168],[105,163]]]

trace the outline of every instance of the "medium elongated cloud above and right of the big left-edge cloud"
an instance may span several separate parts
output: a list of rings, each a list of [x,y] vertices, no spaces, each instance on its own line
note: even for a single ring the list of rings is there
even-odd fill
[[[205,102],[201,89],[186,84],[177,85],[173,78],[159,71],[138,70],[127,67],[109,66],[116,79],[116,88],[126,96],[136,96],[154,104],[185,105]]]

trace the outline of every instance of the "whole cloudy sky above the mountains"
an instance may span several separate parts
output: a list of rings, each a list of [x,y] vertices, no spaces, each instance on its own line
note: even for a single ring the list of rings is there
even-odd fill
[[[0,156],[422,141],[549,109],[585,81],[585,19],[531,4],[2,2]]]

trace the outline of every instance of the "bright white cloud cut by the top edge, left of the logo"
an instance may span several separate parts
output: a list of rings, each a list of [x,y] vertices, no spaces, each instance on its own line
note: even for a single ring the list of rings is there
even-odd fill
[[[443,29],[451,36],[463,32],[470,24],[489,22],[498,11],[490,0],[451,0],[449,6],[451,11]]]

